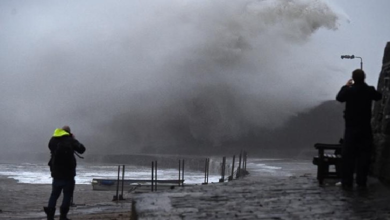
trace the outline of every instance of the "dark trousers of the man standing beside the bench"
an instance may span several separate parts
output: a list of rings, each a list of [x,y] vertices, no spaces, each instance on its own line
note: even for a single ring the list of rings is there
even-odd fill
[[[345,186],[353,185],[353,173],[356,171],[356,183],[365,185],[371,158],[371,127],[346,127],[342,145],[341,182]]]

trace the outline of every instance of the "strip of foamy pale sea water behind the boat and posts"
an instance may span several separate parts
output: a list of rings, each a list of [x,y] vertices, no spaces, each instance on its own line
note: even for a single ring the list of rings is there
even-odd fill
[[[221,178],[221,163],[213,163],[212,170],[208,174],[208,182],[218,182]],[[231,173],[231,164],[226,162],[225,177]],[[119,178],[122,178],[122,165],[120,166]],[[235,162],[235,167],[238,162]],[[289,176],[303,174],[314,170],[311,161],[293,159],[268,159],[268,158],[248,158],[246,169],[251,175],[258,176]],[[180,170],[181,171],[181,170]],[[116,179],[118,176],[118,165],[112,163],[81,163],[77,164],[77,184],[90,184],[92,178]],[[14,178],[22,183],[51,183],[50,170],[47,163],[0,163],[0,175]],[[157,179],[177,179],[178,168],[158,168]],[[181,178],[182,173],[180,173]],[[204,171],[184,169],[184,183],[204,182]],[[124,179],[150,179],[151,167],[125,164]]]

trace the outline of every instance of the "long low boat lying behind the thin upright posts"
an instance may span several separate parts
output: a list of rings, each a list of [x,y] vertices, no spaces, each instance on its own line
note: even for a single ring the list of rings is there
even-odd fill
[[[116,189],[127,192],[149,192],[151,191],[151,179],[101,179],[92,178],[92,190],[105,190],[115,191]],[[155,183],[156,181],[156,183]],[[156,190],[167,190],[174,187],[188,186],[194,184],[183,184],[184,180],[180,179],[157,179],[153,181],[153,189]],[[119,184],[118,184],[119,183]],[[179,185],[180,183],[180,185]]]

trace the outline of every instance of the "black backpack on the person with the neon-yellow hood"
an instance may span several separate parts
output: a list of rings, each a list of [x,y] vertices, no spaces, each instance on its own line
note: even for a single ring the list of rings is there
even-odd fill
[[[53,175],[65,174],[71,172],[74,166],[73,147],[70,142],[61,141],[57,143],[57,147],[51,157],[50,171]]]

